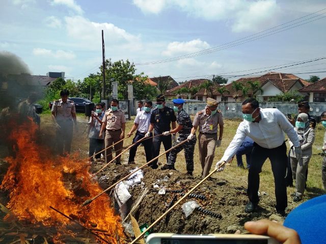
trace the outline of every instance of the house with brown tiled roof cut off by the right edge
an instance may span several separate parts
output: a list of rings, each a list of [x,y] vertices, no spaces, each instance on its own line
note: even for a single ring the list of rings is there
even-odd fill
[[[326,102],[326,77],[301,88],[299,92],[308,94],[309,102]]]

